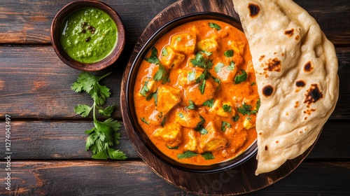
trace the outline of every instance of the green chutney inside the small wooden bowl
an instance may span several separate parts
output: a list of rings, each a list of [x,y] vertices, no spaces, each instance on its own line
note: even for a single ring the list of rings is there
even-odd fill
[[[64,51],[78,62],[92,63],[107,57],[116,47],[118,29],[113,19],[98,8],[81,8],[62,25]]]

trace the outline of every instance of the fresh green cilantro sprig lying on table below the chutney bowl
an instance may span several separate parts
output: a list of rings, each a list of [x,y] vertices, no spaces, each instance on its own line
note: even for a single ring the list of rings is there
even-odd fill
[[[97,111],[102,116],[111,116],[116,107],[113,104],[104,108],[106,99],[111,95],[111,92],[109,87],[100,85],[99,81],[109,76],[109,74],[111,73],[106,73],[104,76],[93,76],[85,71],[79,74],[78,79],[71,86],[71,90],[74,92],[87,92],[94,100],[94,104],[92,106],[78,104],[74,108],[74,112],[85,118],[92,111],[94,127],[85,131],[85,134],[88,134],[85,150],[92,151],[93,159],[107,160],[111,158],[114,160],[125,160],[127,158],[125,153],[113,149],[113,146],[120,144],[120,133],[118,133],[118,130],[122,127],[120,122],[113,118],[108,118],[102,122],[96,118]]]

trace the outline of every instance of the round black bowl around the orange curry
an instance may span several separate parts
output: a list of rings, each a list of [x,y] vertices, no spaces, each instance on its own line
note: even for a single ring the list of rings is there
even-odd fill
[[[166,162],[167,164],[176,167],[178,169],[183,169],[187,172],[197,172],[197,173],[213,173],[213,172],[221,172],[224,169],[229,169],[232,167],[236,167],[237,165],[240,165],[241,163],[245,162],[249,158],[253,157],[255,153],[258,151],[258,145],[256,143],[256,140],[249,146],[244,153],[241,153],[236,158],[232,160],[227,160],[225,162],[220,162],[215,165],[188,165],[183,164],[181,162],[176,162],[176,160],[173,160],[172,158],[169,158],[167,155],[163,154],[161,151],[158,150],[158,148],[153,144],[153,142],[148,138],[144,130],[142,130],[141,126],[138,123],[137,115],[134,110],[134,97],[133,97],[133,90],[134,90],[134,81],[137,77],[137,72],[139,71],[139,66],[141,62],[144,60],[147,52],[151,50],[152,46],[157,42],[163,35],[165,35],[168,31],[171,29],[174,29],[174,27],[178,27],[179,25],[182,25],[186,22],[194,21],[194,20],[219,20],[226,22],[237,29],[243,31],[241,27],[241,23],[237,21],[235,18],[232,18],[228,15],[223,15],[221,13],[194,13],[190,15],[184,15],[180,18],[176,18],[164,26],[162,26],[158,31],[151,36],[151,38],[148,39],[146,44],[141,48],[139,54],[135,58],[134,62],[132,63],[129,76],[127,78],[127,86],[126,86],[126,102],[127,102],[127,115],[130,118],[130,121],[132,123],[133,130],[128,131],[135,131],[137,132],[137,135],[141,139],[141,141],[144,142],[145,146],[148,148],[149,151],[151,151],[156,157],[158,157],[163,162]]]

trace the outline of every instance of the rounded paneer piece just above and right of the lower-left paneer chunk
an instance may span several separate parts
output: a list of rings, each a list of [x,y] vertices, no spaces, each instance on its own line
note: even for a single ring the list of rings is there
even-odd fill
[[[194,110],[178,109],[175,115],[175,122],[183,127],[195,128],[202,121],[200,113]]]

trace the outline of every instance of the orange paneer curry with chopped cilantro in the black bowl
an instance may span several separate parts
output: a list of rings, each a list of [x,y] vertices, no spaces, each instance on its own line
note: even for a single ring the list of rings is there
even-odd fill
[[[246,36],[217,20],[167,32],[139,67],[134,105],[169,158],[191,165],[235,158],[256,139],[260,106]]]

